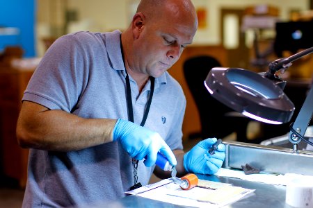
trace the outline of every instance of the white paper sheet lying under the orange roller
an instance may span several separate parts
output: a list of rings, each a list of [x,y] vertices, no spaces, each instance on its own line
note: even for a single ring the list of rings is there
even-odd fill
[[[255,190],[233,187],[232,184],[199,180],[200,187],[189,190],[180,189],[171,180],[162,180],[156,184],[127,191],[128,194],[159,200],[175,205],[190,207],[223,207],[240,200]],[[206,188],[203,188],[206,187]]]

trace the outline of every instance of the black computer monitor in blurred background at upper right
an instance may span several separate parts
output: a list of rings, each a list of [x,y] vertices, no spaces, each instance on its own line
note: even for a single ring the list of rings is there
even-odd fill
[[[274,51],[282,57],[282,51],[297,53],[313,46],[313,20],[277,22]]]

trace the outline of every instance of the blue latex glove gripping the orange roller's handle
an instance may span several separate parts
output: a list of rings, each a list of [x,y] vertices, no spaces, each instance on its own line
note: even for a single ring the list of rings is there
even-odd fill
[[[132,123],[118,119],[113,129],[113,141],[119,141],[127,153],[135,159],[145,159],[144,164],[150,167],[157,160],[157,153],[162,153],[172,166],[177,165],[174,153],[157,133]]]

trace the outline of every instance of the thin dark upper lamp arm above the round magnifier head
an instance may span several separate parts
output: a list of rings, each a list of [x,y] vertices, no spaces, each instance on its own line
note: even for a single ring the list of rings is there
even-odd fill
[[[298,60],[298,58],[303,57],[304,55],[308,55],[313,52],[313,46],[309,49],[305,49],[296,53],[294,55],[289,56],[288,58],[280,58],[268,64],[268,71],[265,73],[266,78],[271,80],[275,79],[277,76],[275,75],[276,71],[286,70],[291,66],[291,62]]]

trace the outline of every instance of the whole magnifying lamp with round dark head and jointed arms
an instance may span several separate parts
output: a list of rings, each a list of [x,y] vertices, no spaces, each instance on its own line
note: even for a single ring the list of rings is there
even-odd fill
[[[268,65],[266,73],[215,67],[204,80],[204,85],[218,101],[252,119],[272,124],[287,123],[294,114],[294,103],[284,94],[286,82],[276,72],[286,70],[291,66],[291,62],[312,51],[313,47],[291,55],[289,58],[275,60]],[[296,121],[291,124],[289,141],[294,144],[295,151],[298,150],[297,144],[301,139],[313,145],[304,137],[312,114],[313,88],[307,94]]]

